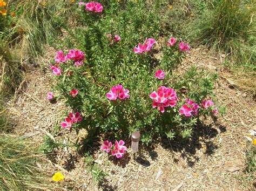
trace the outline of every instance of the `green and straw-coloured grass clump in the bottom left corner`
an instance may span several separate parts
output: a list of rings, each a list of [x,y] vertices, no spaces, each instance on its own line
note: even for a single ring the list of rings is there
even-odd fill
[[[0,136],[0,189],[51,189],[48,172],[39,168],[38,148],[29,140],[10,135]]]

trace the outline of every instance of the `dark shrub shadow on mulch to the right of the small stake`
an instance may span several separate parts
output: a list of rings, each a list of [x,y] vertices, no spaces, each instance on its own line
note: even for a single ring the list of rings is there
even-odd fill
[[[204,154],[211,155],[218,149],[218,146],[214,144],[210,139],[218,135],[218,133],[226,132],[226,127],[217,123],[217,118],[213,119],[214,122],[210,125],[205,125],[203,122],[199,121],[198,125],[193,128],[193,134],[190,139],[183,139],[177,137],[173,140],[167,138],[156,139],[150,146],[142,146],[141,151],[147,151],[151,157],[151,160],[156,160],[158,155],[154,148],[156,145],[160,144],[163,148],[168,149],[173,152],[180,152],[181,157],[187,160],[189,167],[193,167],[197,161],[199,161],[196,152],[198,149],[204,147]],[[213,125],[217,125],[217,129],[213,128]],[[145,166],[150,166],[150,162],[145,160],[145,156],[142,155],[142,152],[138,153],[136,161]],[[179,159],[173,156],[173,161],[175,163],[179,162]]]

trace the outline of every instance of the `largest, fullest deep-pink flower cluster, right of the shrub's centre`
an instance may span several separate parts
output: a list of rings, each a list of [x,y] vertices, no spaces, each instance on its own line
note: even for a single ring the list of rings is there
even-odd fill
[[[165,111],[164,107],[174,107],[177,105],[177,94],[172,88],[161,86],[158,91],[153,91],[150,94],[150,98],[153,99],[152,107],[158,107],[158,110],[162,113]]]

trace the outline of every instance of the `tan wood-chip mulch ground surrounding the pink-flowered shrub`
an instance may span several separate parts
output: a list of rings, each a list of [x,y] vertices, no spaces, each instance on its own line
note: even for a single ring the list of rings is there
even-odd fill
[[[49,48],[40,62],[26,71],[26,78],[17,90],[14,99],[9,101],[9,113],[17,122],[16,132],[41,143],[45,132],[59,127],[65,106],[62,101],[55,104],[46,100],[51,90],[51,72],[39,65],[48,63],[55,56]],[[204,47],[192,49],[180,69],[191,65],[205,67],[218,72],[216,94],[220,104],[227,107],[227,113],[217,114],[215,122],[202,119],[195,127],[190,140],[156,140],[151,147],[142,147],[136,159],[128,152],[120,160],[108,158],[100,147],[93,154],[98,163],[109,175],[100,189],[254,189],[253,182],[242,181],[246,177],[244,134],[255,128],[255,100],[239,91],[222,76],[225,68],[221,63],[225,57],[208,53]],[[63,130],[55,139],[76,140],[76,134]],[[86,132],[80,132],[82,139]],[[102,140],[101,140],[102,141]],[[63,149],[56,161],[45,159],[43,168],[52,173],[60,170],[65,175],[62,184],[66,188],[98,189],[93,186],[90,172],[83,158],[73,149]],[[49,180],[51,177],[49,177]]]

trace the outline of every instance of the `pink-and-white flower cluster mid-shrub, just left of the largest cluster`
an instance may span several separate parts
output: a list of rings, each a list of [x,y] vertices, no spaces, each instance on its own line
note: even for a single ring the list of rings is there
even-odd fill
[[[109,93],[106,94],[106,97],[111,101],[119,99],[130,98],[129,90],[123,89],[122,85],[113,86]]]

